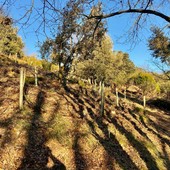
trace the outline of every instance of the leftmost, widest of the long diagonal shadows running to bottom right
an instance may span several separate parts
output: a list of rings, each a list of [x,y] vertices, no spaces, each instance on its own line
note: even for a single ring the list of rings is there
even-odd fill
[[[82,103],[79,103],[79,101],[82,99],[79,99],[77,94],[74,94],[74,91],[71,91],[71,94],[74,96],[73,101],[77,105],[81,106]],[[81,98],[83,98],[83,96],[81,96]],[[126,153],[126,151],[123,150],[122,146],[119,144],[119,141],[116,139],[115,135],[109,132],[108,125],[103,123],[102,118],[98,117],[97,114],[95,114],[93,112],[92,108],[93,108],[93,106],[87,107],[84,105],[83,108],[82,108],[82,106],[80,107],[79,112],[77,112],[77,113],[81,114],[80,112],[82,112],[82,109],[86,109],[88,111],[88,114],[90,115],[91,119],[97,123],[98,127],[105,135],[105,137],[101,137],[95,130],[94,122],[90,121],[86,117],[83,117],[84,120],[89,125],[89,127],[93,133],[93,136],[104,147],[104,149],[106,150],[109,157],[115,159],[123,169],[138,170],[138,167],[133,163],[132,159],[129,157],[129,155]],[[109,160],[107,160],[107,162],[109,162]],[[113,167],[110,166],[110,169],[113,169]]]

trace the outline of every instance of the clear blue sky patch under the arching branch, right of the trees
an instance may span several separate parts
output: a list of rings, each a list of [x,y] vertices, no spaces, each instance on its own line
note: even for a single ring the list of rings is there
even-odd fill
[[[162,19],[154,16],[149,16],[149,22],[143,25],[143,28],[139,31],[139,40],[133,44],[131,41],[127,41],[129,28],[133,25],[130,21],[130,14],[122,14],[107,20],[108,34],[111,36],[114,43],[114,50],[121,50],[127,52],[130,59],[136,66],[147,69],[149,71],[159,71],[152,63],[152,51],[148,47],[148,38],[152,35],[150,28],[154,25],[162,28],[167,23]],[[150,22],[155,21],[155,22]],[[126,39],[124,42],[123,40]]]

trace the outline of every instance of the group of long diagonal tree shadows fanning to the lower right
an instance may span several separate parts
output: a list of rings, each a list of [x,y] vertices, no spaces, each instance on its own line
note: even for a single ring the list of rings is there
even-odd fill
[[[75,112],[77,114],[81,115],[83,110],[87,110],[88,116],[90,116],[90,119],[89,119],[89,117],[86,117],[83,115],[81,116],[81,118],[83,118],[84,121],[86,121],[86,123],[88,124],[88,126],[91,129],[93,136],[103,146],[105,151],[108,153],[109,158],[116,160],[116,162],[119,164],[119,166],[122,169],[129,169],[129,170],[139,169],[137,167],[137,165],[133,162],[133,159],[122,148],[122,146],[120,145],[119,141],[117,140],[115,134],[111,133],[109,131],[108,124],[106,122],[113,124],[116,127],[116,129],[126,137],[126,139],[129,141],[129,143],[132,145],[132,147],[138,152],[141,159],[145,162],[148,169],[154,169],[154,170],[159,169],[155,158],[151,155],[151,153],[149,152],[148,148],[144,145],[144,143],[142,143],[141,141],[136,139],[135,136],[133,136],[132,132],[129,132],[128,130],[126,130],[125,127],[123,125],[121,125],[116,118],[113,118],[111,116],[110,111],[108,111],[108,109],[105,109],[105,113],[106,113],[105,116],[101,117],[98,115],[99,112],[97,111],[97,107],[96,107],[97,102],[95,99],[93,99],[93,98],[89,99],[91,102],[88,102],[88,106],[86,106],[84,102],[87,102],[88,100],[87,99],[85,100],[85,96],[77,95],[77,92],[75,92],[74,90],[70,90],[70,92],[68,93],[68,96],[70,93],[73,95],[73,97],[71,96],[71,100],[73,101],[73,103],[76,103],[76,105],[78,105],[78,107],[79,107],[79,109],[76,109]],[[84,102],[82,102],[82,101],[84,101]],[[135,100],[135,102],[136,102],[136,100]],[[93,103],[92,106],[91,106],[91,103]],[[139,101],[139,103],[142,104],[141,101]],[[94,108],[94,106],[95,106],[95,108]],[[95,111],[94,111],[94,109],[95,109]],[[118,110],[119,113],[121,111],[122,111],[121,109]],[[98,113],[95,113],[95,112],[98,112]],[[127,112],[129,112],[129,108],[127,109]],[[130,114],[130,115],[140,123],[140,121],[134,114]],[[133,125],[133,128],[139,134],[143,135],[147,140],[149,140],[149,138],[147,137],[147,134],[145,132],[143,132],[142,129],[140,129],[137,126],[137,124],[135,123],[135,120],[132,121],[126,115],[122,115],[122,118],[129,121]],[[94,124],[98,125],[98,128],[100,128],[100,130],[103,132],[104,137],[98,133]],[[147,125],[144,125],[144,127],[148,129]],[[161,136],[157,133],[156,133],[156,135],[161,140]],[[163,144],[162,140],[161,140],[161,143]],[[166,144],[169,144],[169,142],[166,141]],[[164,149],[163,157],[165,157],[166,155],[167,155],[167,152],[166,152],[166,149]],[[107,162],[110,162],[109,158],[106,160]],[[166,161],[166,164],[169,163],[169,159],[166,158],[165,161]],[[110,168],[113,169],[112,166]]]

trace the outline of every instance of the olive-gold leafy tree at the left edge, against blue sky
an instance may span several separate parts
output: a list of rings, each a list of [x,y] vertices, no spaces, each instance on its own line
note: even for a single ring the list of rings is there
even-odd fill
[[[12,19],[0,14],[0,52],[6,55],[23,56],[23,47],[21,37],[18,31],[12,25]]]

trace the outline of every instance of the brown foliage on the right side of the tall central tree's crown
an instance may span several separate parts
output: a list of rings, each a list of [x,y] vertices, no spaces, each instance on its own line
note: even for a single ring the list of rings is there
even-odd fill
[[[102,3],[98,3],[90,10],[90,15],[101,15],[102,13]],[[105,38],[106,31],[106,22],[101,22],[96,19],[82,19],[82,25],[78,33],[79,41],[76,45],[76,50],[80,55],[80,59],[84,60],[94,57],[93,52],[96,48],[100,48],[102,40]]]

